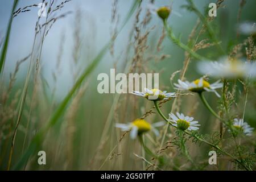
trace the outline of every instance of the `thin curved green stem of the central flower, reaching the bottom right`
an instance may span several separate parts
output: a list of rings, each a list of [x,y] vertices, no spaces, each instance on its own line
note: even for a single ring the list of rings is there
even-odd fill
[[[173,126],[173,127],[175,127],[175,128],[177,129],[177,127],[174,126],[174,125],[172,125],[171,122],[168,121],[168,119],[164,116],[164,114],[162,113],[162,111],[161,111],[160,108],[159,108],[159,105],[158,105],[157,101],[154,101],[154,104],[155,104],[156,110],[157,110],[158,113],[161,115],[161,117],[162,117],[166,122],[168,122],[171,126]],[[181,131],[182,131],[182,130],[181,130]],[[222,148],[218,147],[217,145],[214,145],[213,143],[210,143],[210,142],[208,142],[207,140],[205,140],[205,139],[203,139],[203,138],[201,138],[201,137],[199,137],[199,136],[197,136],[197,135],[192,135],[192,134],[189,133],[188,131],[183,131],[183,132],[184,132],[185,134],[190,135],[191,137],[194,137],[194,138],[200,140],[201,142],[204,142],[204,143],[208,144],[209,146],[211,146],[211,147],[213,147],[213,148],[216,148],[218,151],[222,152],[222,154],[225,154],[225,155],[229,156],[230,158],[232,158],[233,160],[235,160],[237,163],[240,163],[241,166],[243,166],[247,171],[251,171],[251,169],[248,168],[247,166],[245,166],[245,165],[241,162],[241,160],[235,158],[233,155],[231,155],[231,154],[229,154],[228,152],[222,150]]]

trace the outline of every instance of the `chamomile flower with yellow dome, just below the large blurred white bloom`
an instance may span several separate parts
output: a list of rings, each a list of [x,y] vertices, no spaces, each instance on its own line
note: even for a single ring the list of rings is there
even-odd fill
[[[210,84],[208,81],[204,80],[203,77],[192,82],[178,80],[178,84],[175,83],[174,85],[176,86],[175,89],[179,90],[189,90],[191,92],[214,92],[218,97],[220,97],[220,95],[215,89],[222,88],[223,86],[223,84],[220,83],[220,80]]]

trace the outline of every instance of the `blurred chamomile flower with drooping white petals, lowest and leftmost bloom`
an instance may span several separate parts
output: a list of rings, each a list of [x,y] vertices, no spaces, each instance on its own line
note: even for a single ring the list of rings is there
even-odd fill
[[[153,123],[152,125],[146,122],[144,119],[135,119],[135,121],[129,124],[116,123],[115,127],[120,128],[122,131],[130,131],[131,139],[135,139],[138,135],[146,133],[147,131],[152,130],[156,136],[159,135],[159,131],[155,127],[160,127],[164,125],[164,121]]]

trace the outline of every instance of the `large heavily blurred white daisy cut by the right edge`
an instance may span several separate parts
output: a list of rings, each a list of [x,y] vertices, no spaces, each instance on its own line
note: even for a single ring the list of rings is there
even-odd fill
[[[240,60],[202,61],[197,68],[200,73],[217,78],[256,77],[256,63]]]

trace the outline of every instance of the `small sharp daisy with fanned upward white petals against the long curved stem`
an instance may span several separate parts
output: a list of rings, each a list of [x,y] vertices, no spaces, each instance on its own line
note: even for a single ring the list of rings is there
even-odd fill
[[[179,130],[198,130],[199,127],[197,126],[200,126],[197,124],[198,121],[193,121],[193,117],[185,116],[182,113],[176,113],[176,115],[170,113],[169,118],[169,120],[172,122],[172,125],[176,126]]]

